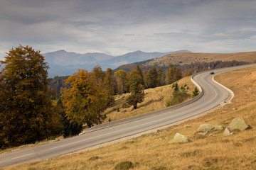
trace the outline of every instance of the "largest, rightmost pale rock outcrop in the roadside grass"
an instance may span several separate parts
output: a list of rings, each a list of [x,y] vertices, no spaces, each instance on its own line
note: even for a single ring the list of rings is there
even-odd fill
[[[234,130],[242,131],[247,129],[250,129],[250,125],[247,125],[247,123],[245,123],[245,120],[243,118],[235,118],[228,125],[228,127],[225,128],[223,135],[228,136],[228,135],[232,135],[234,133]]]

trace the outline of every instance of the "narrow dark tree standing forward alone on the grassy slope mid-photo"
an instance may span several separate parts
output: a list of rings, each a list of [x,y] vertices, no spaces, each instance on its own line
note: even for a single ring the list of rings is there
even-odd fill
[[[129,89],[131,91],[131,95],[128,96],[126,103],[128,106],[134,106],[134,109],[137,109],[137,103],[144,101],[144,86],[142,84],[143,77],[139,73],[138,69],[132,70],[129,77]]]

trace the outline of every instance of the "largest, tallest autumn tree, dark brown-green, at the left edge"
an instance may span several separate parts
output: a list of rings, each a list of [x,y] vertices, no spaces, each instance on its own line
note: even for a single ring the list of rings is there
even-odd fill
[[[0,72],[0,147],[46,139],[53,135],[52,125],[61,128],[48,98],[48,64],[28,46],[6,54]]]

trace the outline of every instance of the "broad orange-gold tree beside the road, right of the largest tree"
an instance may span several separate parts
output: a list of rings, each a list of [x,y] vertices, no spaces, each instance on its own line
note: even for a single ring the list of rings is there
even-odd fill
[[[105,91],[92,74],[78,69],[78,72],[65,80],[65,85],[70,88],[62,90],[61,98],[68,119],[78,124],[86,123],[88,128],[102,123],[105,119],[102,112],[107,108],[107,100]]]

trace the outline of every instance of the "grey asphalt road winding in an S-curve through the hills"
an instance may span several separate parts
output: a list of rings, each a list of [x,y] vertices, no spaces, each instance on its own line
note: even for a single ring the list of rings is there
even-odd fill
[[[233,69],[252,66],[256,66],[256,64],[216,69],[214,72],[215,74],[220,74]],[[1,154],[0,167],[58,157],[80,149],[161,128],[165,125],[171,125],[172,123],[186,120],[195,115],[206,113],[206,111],[220,106],[221,103],[227,102],[228,98],[230,98],[230,93],[223,86],[215,83],[213,76],[210,74],[210,71],[201,72],[193,76],[193,81],[196,81],[196,85],[200,86],[199,88],[202,91],[198,97],[190,101],[170,108],[164,108],[160,111],[138,115],[133,118],[97,125],[85,131],[82,135],[70,137],[58,142]]]

